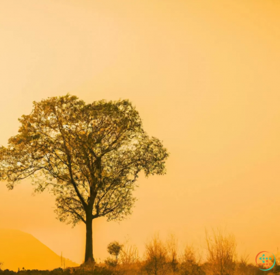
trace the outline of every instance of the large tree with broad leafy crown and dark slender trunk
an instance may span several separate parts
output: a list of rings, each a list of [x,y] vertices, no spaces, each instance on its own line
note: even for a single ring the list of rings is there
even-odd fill
[[[0,179],[13,189],[31,178],[36,192],[55,194],[60,221],[85,223],[85,263],[94,261],[92,220],[130,214],[139,172],[165,174],[167,149],[143,131],[128,100],[51,97],[33,102],[19,121],[18,135],[0,147]]]

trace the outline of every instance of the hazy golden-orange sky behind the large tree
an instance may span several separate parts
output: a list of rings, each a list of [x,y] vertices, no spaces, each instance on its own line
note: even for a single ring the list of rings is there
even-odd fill
[[[156,231],[204,246],[223,226],[251,258],[280,246],[278,0],[1,0],[0,144],[32,101],[130,99],[171,154],[167,175],[139,179],[128,220],[94,221],[94,256],[125,237],[143,252]],[[29,181],[0,183],[0,227],[73,261],[85,226],[55,219]]]

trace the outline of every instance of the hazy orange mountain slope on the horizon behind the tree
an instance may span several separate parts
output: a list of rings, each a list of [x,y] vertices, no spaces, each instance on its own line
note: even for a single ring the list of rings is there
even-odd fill
[[[2,270],[53,270],[61,267],[61,257],[28,233],[0,228]],[[65,259],[67,267],[79,266]]]

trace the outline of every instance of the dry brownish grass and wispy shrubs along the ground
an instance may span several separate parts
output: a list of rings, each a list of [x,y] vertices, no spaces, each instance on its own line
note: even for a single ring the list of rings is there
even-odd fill
[[[201,253],[193,246],[185,246],[178,251],[178,240],[170,235],[167,241],[154,235],[145,244],[142,259],[136,246],[126,242],[117,254],[115,266],[106,263],[87,263],[80,267],[48,270],[1,270],[0,275],[272,275],[280,274],[280,266],[271,272],[260,270],[248,263],[248,255],[238,257],[236,240],[233,235],[222,231],[206,233],[207,259],[201,261]]]

